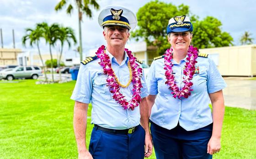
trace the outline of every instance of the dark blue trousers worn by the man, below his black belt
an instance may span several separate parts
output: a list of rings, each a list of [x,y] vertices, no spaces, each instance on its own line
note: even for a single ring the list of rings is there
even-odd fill
[[[131,134],[108,133],[92,129],[89,152],[93,159],[144,159],[145,130]]]

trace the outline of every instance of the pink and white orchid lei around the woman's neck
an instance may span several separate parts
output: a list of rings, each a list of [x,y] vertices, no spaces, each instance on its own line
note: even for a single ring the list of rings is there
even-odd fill
[[[191,82],[190,80],[192,80],[193,75],[195,73],[195,64],[197,63],[196,59],[197,59],[197,48],[193,47],[193,46],[189,46],[188,51],[187,51],[187,58],[186,60],[188,62],[186,62],[185,68],[183,70],[183,74],[185,75],[185,77],[183,77],[183,83],[185,84],[184,87],[181,88],[181,90],[179,90],[179,87],[176,85],[176,80],[175,80],[175,76],[172,74],[173,70],[172,70],[172,62],[171,59],[173,58],[172,56],[173,54],[173,48],[171,47],[171,49],[167,49],[165,51],[164,54],[164,59],[165,59],[165,67],[164,69],[165,71],[165,77],[167,79],[167,81],[165,82],[165,84],[167,84],[169,87],[169,89],[171,89],[173,92],[171,92],[171,94],[173,95],[174,98],[178,97],[179,99],[181,99],[181,97],[185,97],[188,98],[188,96],[191,95],[191,91],[193,91],[193,89],[191,89],[193,82]]]

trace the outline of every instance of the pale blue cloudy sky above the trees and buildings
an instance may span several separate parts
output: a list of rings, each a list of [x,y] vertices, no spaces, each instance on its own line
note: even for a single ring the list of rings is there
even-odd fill
[[[68,0],[67,0],[68,1]],[[75,0],[69,0],[75,1]],[[140,7],[150,0],[98,0],[100,10],[107,5],[123,5],[137,13]],[[234,44],[240,45],[240,36],[245,31],[252,33],[256,43],[256,7],[255,0],[160,0],[174,5],[182,3],[188,5],[192,14],[198,15],[200,20],[206,16],[219,19],[223,26],[222,31],[227,31],[233,38]],[[29,51],[21,45],[21,37],[25,34],[25,28],[34,27],[36,23],[46,21],[49,24],[58,22],[64,26],[74,28],[78,38],[77,10],[71,16],[66,15],[65,10],[56,12],[55,5],[59,0],[0,0],[0,28],[3,31],[4,47],[11,48],[12,29],[15,30],[16,48]],[[93,18],[84,16],[82,23],[83,49],[84,51],[96,48],[105,41],[102,37],[102,29],[98,25],[99,11],[93,10]],[[171,18],[171,17],[170,17]],[[132,43],[134,41],[129,41]],[[42,41],[40,46],[43,52],[48,52],[48,46]],[[67,56],[75,55],[73,46],[69,51],[65,49]],[[57,49],[55,49],[57,50]]]

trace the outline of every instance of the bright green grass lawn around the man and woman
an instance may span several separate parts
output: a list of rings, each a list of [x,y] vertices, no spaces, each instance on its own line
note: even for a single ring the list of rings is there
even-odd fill
[[[0,159],[76,159],[74,101],[69,99],[74,86],[0,82]],[[87,146],[90,118],[88,123]],[[226,107],[221,144],[214,159],[255,159],[256,111]]]

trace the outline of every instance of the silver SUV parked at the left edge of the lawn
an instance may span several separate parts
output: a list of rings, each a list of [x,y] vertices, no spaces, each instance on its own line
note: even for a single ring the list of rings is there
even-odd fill
[[[17,66],[13,69],[5,69],[0,72],[0,79],[13,80],[16,78],[37,79],[42,76],[42,70],[37,66]]]

